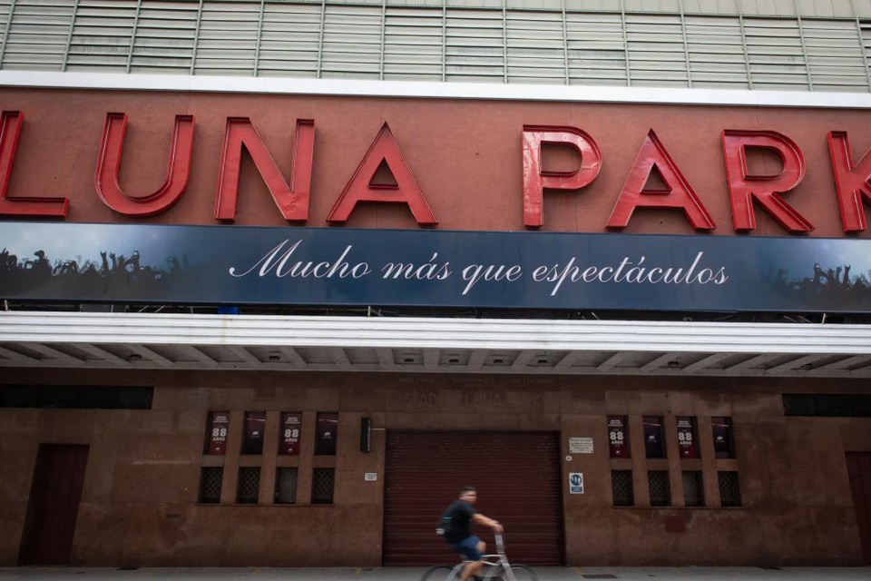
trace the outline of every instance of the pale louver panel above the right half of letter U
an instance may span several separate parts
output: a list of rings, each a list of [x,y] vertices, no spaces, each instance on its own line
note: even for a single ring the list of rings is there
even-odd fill
[[[131,71],[190,74],[199,3],[143,0]]]

